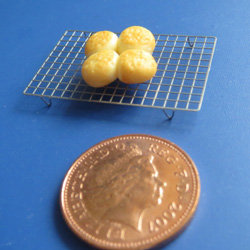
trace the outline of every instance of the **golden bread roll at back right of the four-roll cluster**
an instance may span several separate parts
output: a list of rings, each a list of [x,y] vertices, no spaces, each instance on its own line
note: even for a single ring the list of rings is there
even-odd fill
[[[155,38],[148,29],[141,26],[131,26],[121,33],[117,51],[118,54],[121,54],[127,49],[142,49],[152,54],[154,48]]]

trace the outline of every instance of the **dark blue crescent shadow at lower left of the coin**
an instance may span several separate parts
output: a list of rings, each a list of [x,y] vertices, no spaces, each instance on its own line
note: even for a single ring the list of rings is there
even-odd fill
[[[78,238],[67,226],[60,208],[60,194],[57,194],[54,201],[53,220],[55,230],[58,233],[58,237],[67,246],[68,249],[74,250],[97,250]]]

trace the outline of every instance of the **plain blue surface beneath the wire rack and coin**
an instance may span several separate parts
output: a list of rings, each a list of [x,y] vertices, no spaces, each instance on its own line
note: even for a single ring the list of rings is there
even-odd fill
[[[169,139],[194,160],[198,211],[164,249],[249,249],[250,2],[1,1],[0,249],[87,249],[65,225],[59,191],[73,161],[109,137],[145,133]],[[201,111],[53,100],[22,94],[67,29],[218,38]]]

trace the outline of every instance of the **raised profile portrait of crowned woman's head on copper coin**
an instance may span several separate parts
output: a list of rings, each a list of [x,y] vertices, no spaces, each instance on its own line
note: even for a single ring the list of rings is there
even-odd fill
[[[91,216],[141,231],[143,212],[161,204],[167,185],[158,178],[154,156],[133,149],[93,170],[84,196]]]

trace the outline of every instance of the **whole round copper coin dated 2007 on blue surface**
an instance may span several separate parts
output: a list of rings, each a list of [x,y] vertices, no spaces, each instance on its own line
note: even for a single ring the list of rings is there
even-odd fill
[[[145,249],[178,235],[198,204],[199,176],[175,144],[124,135],[93,146],[71,166],[61,190],[68,226],[101,249]]]

